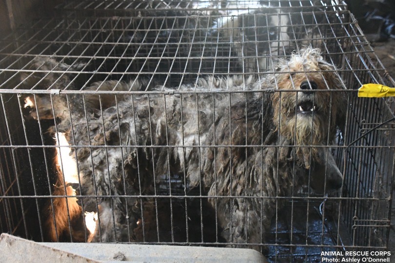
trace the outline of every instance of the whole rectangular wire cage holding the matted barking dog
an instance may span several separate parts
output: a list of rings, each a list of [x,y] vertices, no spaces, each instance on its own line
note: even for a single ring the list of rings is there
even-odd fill
[[[236,174],[233,152],[263,167],[270,153],[252,159],[251,152],[284,147],[279,139],[268,146],[266,128],[253,131],[247,113],[237,111],[247,112],[254,96],[263,102],[270,94],[296,94],[282,91],[280,83],[248,87],[276,75],[279,61],[309,45],[343,80],[341,90],[325,87],[331,101],[336,94],[345,99],[337,105],[345,126],[317,148],[332,153],[325,161],[335,159],[340,190],[328,195],[309,188],[313,170],[287,194],[276,185],[274,195],[238,188],[221,195],[218,178],[213,194],[205,165],[219,176],[220,162],[227,160]],[[54,17],[14,30],[0,50],[2,232],[40,242],[248,247],[270,262],[319,262],[322,251],[387,248],[395,104],[391,98],[358,98],[356,89],[395,82],[343,2],[72,0],[60,4]],[[207,89],[201,88],[204,80]],[[219,114],[245,123],[244,140],[219,137]],[[232,137],[226,127],[222,136]],[[257,139],[248,135],[254,132]],[[173,140],[176,133],[181,138]],[[246,178],[247,166],[240,166]],[[300,167],[294,163],[292,169]],[[261,171],[239,187],[253,188],[262,178],[271,180]],[[329,188],[325,179],[321,184]],[[242,205],[250,200],[261,207]],[[263,209],[266,201],[272,206]],[[236,218],[232,209],[258,211],[259,222],[223,223],[229,215]],[[271,222],[269,230],[262,230],[264,220]],[[227,230],[231,238],[223,234],[240,225]],[[249,239],[243,227],[258,232],[259,240]],[[235,241],[237,234],[243,242]]]

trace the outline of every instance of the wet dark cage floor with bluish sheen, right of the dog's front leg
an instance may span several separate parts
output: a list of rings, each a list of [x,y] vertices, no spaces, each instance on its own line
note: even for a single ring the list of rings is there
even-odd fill
[[[319,205],[289,202],[279,211],[267,238],[269,244],[278,244],[268,246],[269,262],[321,262],[322,251],[336,251],[338,227],[331,216],[322,220]]]

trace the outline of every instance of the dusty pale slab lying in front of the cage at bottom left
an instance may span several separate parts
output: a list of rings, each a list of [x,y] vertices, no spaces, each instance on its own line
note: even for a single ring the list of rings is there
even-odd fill
[[[38,243],[0,236],[0,262],[15,263],[267,263],[258,251],[177,245]]]

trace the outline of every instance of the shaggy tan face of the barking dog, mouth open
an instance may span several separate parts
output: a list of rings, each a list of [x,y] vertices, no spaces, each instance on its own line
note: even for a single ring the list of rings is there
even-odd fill
[[[273,95],[274,125],[295,145],[298,162],[308,169],[319,159],[314,146],[326,145],[336,135],[344,105],[342,95],[331,90],[342,89],[341,79],[319,50],[311,48],[283,61],[277,71],[274,81],[284,92]]]

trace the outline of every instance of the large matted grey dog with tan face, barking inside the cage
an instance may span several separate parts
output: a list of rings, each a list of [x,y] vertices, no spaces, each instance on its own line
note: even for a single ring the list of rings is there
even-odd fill
[[[284,202],[278,197],[307,185],[341,186],[328,144],[344,126],[343,85],[320,50],[308,47],[259,77],[207,77],[117,99],[60,94],[51,103],[36,95],[26,106],[35,118],[60,120],[51,132],[65,136],[79,173],[67,186],[83,211],[98,213],[89,241],[158,241],[158,178],[183,174],[208,196],[226,245],[260,251]],[[141,86],[136,79],[119,87]],[[56,214],[67,220],[67,211]]]

